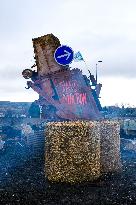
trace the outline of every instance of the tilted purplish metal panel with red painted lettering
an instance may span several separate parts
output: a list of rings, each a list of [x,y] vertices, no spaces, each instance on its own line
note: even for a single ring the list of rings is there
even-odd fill
[[[52,88],[51,82],[54,85]],[[79,69],[56,72],[31,87],[54,105],[58,116],[65,119],[98,119],[99,110],[92,96],[91,86],[87,86],[82,72]],[[41,88],[41,89],[40,89]],[[54,100],[55,92],[58,100]]]

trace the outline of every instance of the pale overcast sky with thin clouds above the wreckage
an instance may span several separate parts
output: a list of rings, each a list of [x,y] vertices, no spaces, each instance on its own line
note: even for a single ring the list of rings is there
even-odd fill
[[[136,106],[135,0],[0,0],[0,100],[38,99],[21,72],[34,63],[32,38],[48,33],[81,51],[92,73],[103,61],[102,105]]]

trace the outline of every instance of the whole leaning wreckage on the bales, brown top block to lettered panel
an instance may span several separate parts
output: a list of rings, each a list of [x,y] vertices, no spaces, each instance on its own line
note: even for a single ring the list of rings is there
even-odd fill
[[[22,75],[27,81],[26,89],[39,94],[36,101],[42,108],[44,118],[57,120],[97,120],[101,116],[99,94],[102,84],[94,75],[82,74],[78,68],[59,65],[54,59],[55,50],[61,45],[53,34],[34,38],[35,64]]]

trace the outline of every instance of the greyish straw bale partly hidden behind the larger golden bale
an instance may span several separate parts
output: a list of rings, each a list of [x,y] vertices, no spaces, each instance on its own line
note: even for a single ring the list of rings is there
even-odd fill
[[[100,164],[101,172],[121,170],[120,160],[120,125],[118,121],[103,120],[100,126]]]

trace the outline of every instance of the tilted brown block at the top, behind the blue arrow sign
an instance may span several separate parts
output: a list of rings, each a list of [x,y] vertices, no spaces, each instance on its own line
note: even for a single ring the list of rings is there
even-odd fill
[[[54,52],[61,45],[57,37],[47,34],[34,38],[32,41],[40,77],[62,69],[62,66],[58,65],[54,59]]]

